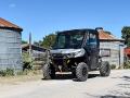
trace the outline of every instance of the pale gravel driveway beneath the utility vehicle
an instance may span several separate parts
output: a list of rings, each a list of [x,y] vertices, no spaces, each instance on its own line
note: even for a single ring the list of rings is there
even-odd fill
[[[114,70],[109,77],[90,73],[87,82],[67,74],[52,81],[0,84],[0,98],[130,98],[130,70]]]

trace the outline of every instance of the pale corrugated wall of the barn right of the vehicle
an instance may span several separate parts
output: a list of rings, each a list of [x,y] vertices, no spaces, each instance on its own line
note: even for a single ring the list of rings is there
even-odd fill
[[[119,52],[120,52],[120,65],[123,64],[123,47],[120,45],[123,45],[120,41],[101,41],[100,48],[102,49],[109,49],[110,54],[108,57],[104,57],[103,61],[108,61],[110,64],[119,66]]]

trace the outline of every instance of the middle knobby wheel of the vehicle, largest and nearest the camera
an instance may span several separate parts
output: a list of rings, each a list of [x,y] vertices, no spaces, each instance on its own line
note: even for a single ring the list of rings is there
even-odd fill
[[[84,62],[81,62],[76,68],[76,77],[80,82],[84,82],[88,78],[88,65]]]

